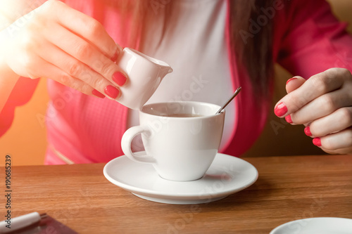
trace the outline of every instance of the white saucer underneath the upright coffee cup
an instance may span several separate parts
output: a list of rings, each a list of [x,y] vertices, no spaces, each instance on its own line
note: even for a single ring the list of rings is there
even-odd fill
[[[168,204],[200,204],[220,200],[256,182],[258,171],[249,162],[218,153],[206,175],[196,181],[168,181],[151,164],[133,162],[125,155],[103,169],[111,183],[138,197]]]

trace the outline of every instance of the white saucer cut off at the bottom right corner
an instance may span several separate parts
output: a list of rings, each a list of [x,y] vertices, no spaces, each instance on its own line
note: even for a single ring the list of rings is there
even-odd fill
[[[352,219],[344,218],[310,218],[284,223],[270,234],[351,234]]]

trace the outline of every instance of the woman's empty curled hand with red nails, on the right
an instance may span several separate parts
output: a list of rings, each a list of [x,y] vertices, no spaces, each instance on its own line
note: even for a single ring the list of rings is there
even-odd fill
[[[352,75],[332,68],[307,81],[287,81],[287,95],[275,105],[275,115],[290,124],[304,124],[306,135],[330,154],[352,154]]]

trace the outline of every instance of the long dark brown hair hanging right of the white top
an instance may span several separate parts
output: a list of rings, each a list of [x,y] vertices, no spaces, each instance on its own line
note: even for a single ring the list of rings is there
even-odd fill
[[[230,45],[237,55],[240,74],[248,74],[258,97],[269,95],[273,77],[273,22],[262,9],[272,6],[272,0],[230,1]],[[245,69],[245,70],[244,70]]]

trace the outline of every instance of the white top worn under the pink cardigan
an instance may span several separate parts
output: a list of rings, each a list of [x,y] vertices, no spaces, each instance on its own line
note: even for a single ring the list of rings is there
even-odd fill
[[[170,64],[173,72],[164,77],[147,103],[194,100],[222,105],[234,93],[225,41],[226,0],[179,0],[173,4],[172,11],[177,14],[171,15],[162,41],[156,35],[163,30],[165,7],[152,8],[156,17],[146,32],[142,52]],[[234,129],[234,101],[225,111],[220,150]],[[138,110],[129,113],[128,127],[138,125]]]

